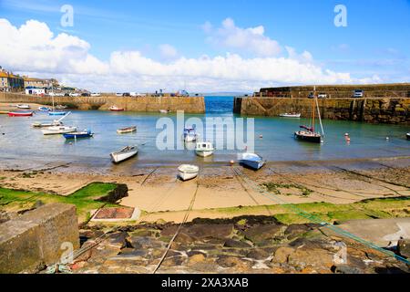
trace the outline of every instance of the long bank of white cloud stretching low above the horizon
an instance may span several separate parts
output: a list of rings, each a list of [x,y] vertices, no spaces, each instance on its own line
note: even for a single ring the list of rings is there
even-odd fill
[[[243,31],[255,42],[276,44],[263,36],[262,26],[243,30],[228,20],[223,27],[240,31],[229,38],[230,44],[240,46]],[[348,73],[322,68],[313,62],[310,53],[298,54],[292,47],[286,47],[288,57],[227,53],[193,58],[179,57],[174,47],[162,45],[162,57],[169,57],[167,62],[145,57],[136,50],[114,51],[104,61],[89,53],[87,41],[66,33],[55,36],[45,23],[36,20],[15,27],[0,19],[0,36],[0,65],[4,68],[31,76],[56,77],[67,85],[92,90],[177,90],[186,83],[191,91],[236,91],[284,84],[352,82]]]

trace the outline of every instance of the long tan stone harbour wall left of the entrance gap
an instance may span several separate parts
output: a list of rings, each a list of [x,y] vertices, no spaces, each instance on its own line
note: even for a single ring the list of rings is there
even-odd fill
[[[0,102],[38,103],[51,105],[51,97],[0,92]],[[184,110],[186,113],[204,113],[203,97],[55,97],[56,104],[67,105],[78,110],[108,110],[116,105],[128,111],[158,112],[159,110]]]

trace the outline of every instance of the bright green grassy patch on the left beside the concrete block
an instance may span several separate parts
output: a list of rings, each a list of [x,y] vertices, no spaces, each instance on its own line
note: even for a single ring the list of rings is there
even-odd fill
[[[115,183],[90,183],[68,196],[0,188],[0,208],[8,211],[19,211],[30,208],[36,201],[42,201],[43,203],[72,203],[77,206],[80,221],[85,221],[91,210],[98,209],[105,204],[95,200],[107,195],[116,186]],[[108,203],[108,206],[114,205],[116,204]]]

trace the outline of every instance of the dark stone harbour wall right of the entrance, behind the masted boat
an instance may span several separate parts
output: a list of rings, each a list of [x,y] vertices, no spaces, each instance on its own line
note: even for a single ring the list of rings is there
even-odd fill
[[[410,99],[318,99],[323,119],[410,125]],[[242,115],[279,116],[296,111],[310,117],[313,99],[235,98],[233,111]]]

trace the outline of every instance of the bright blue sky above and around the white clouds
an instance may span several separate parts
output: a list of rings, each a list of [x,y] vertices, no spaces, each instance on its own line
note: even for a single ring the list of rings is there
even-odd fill
[[[60,26],[62,16],[60,7],[66,4],[74,8],[73,27]],[[336,16],[333,8],[339,4],[347,8],[347,27],[333,25],[333,18]],[[346,82],[360,82],[360,80],[405,82],[410,77],[410,1],[408,0],[87,2],[0,0],[0,11],[0,18],[5,18],[16,28],[25,25],[27,20],[33,19],[45,23],[54,33],[54,37],[62,33],[77,36],[89,44],[87,54],[100,62],[110,62],[113,52],[128,51],[138,51],[143,57],[159,64],[169,64],[180,57],[194,59],[203,55],[223,57],[227,53],[238,54],[244,60],[254,60],[256,57],[292,58],[288,56],[288,50],[285,48],[292,47],[298,54],[307,51],[312,56],[309,62],[322,69],[323,75],[326,74],[326,70],[349,74],[348,81],[346,78],[334,78],[334,81],[341,79],[340,82],[343,80]],[[232,20],[234,28],[230,30],[231,32],[225,31],[219,35],[218,29],[223,28],[221,23],[227,18]],[[204,24],[207,23],[211,27],[209,31],[204,29]],[[269,54],[261,56],[259,54],[261,52],[258,53],[259,55],[255,54],[254,50],[242,46],[243,44],[227,45],[229,44],[227,39],[232,31],[237,31],[237,28],[246,30],[257,26],[263,26],[263,39],[276,42],[277,47],[281,47],[280,52],[272,53],[272,56]],[[251,37],[248,39],[250,42]],[[164,56],[164,52],[161,51],[160,47],[165,44],[173,48],[170,54],[172,56]],[[262,42],[261,46],[263,44],[265,43]],[[2,61],[12,69],[25,71],[21,66],[7,64],[0,58],[0,63]],[[140,62],[138,64],[140,65]],[[291,67],[292,64],[283,64],[277,69],[286,70]],[[26,72],[37,75],[55,73],[63,79],[67,78],[67,81],[77,82],[75,77],[68,78],[67,74],[65,76],[61,68],[54,70],[31,68]],[[140,74],[141,78],[146,75],[140,70],[134,73]],[[291,73],[290,69],[289,74]],[[138,82],[142,82],[141,78]],[[197,75],[195,78],[198,89],[210,84],[203,81],[200,85]],[[238,76],[237,81],[246,79],[251,82],[255,78],[244,74],[243,77]],[[273,76],[272,80],[254,82],[258,83],[254,86],[309,81],[313,80]],[[332,83],[333,78],[321,79],[318,76],[318,81]],[[169,82],[172,83],[171,80]],[[195,82],[192,81],[192,84]],[[227,83],[234,86],[231,79]],[[87,83],[84,85],[86,86]],[[213,86],[213,83],[210,85]],[[141,88],[149,88],[149,86],[144,85]],[[115,87],[113,84],[112,88]],[[251,84],[249,87],[252,87]]]

